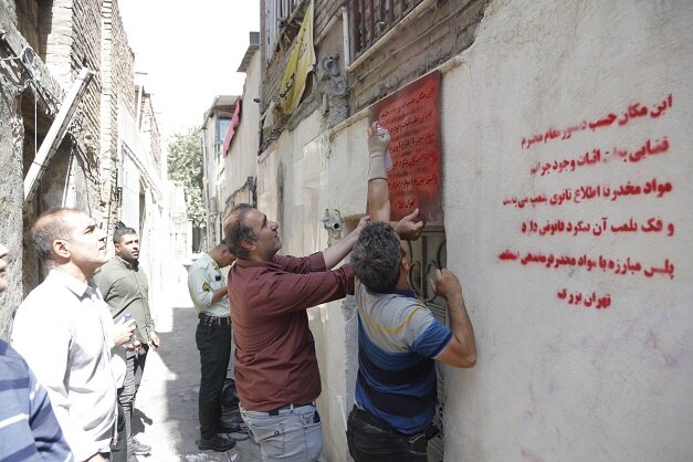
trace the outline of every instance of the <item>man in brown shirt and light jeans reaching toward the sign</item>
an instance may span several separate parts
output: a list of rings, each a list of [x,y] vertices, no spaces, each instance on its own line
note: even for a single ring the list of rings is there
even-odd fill
[[[321,377],[306,309],[354,293],[350,265],[329,271],[354,246],[358,227],[323,252],[279,255],[279,224],[249,204],[233,208],[224,234],[235,265],[229,300],[241,414],[263,461],[315,461],[323,447],[315,409]]]

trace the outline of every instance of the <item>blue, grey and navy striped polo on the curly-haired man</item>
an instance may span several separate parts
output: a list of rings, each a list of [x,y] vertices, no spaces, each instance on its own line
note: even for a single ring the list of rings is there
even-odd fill
[[[357,406],[395,430],[413,434],[433,421],[435,361],[452,339],[413,292],[379,294],[357,281]]]

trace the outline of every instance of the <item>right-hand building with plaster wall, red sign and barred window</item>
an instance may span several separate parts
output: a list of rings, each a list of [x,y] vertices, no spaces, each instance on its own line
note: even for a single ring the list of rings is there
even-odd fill
[[[283,252],[365,212],[374,116],[397,137],[396,209],[430,187],[411,282],[444,321],[427,275],[460,276],[479,353],[439,370],[431,460],[693,453],[692,31],[683,0],[262,1],[256,197]],[[346,461],[354,302],[309,317],[325,455]]]

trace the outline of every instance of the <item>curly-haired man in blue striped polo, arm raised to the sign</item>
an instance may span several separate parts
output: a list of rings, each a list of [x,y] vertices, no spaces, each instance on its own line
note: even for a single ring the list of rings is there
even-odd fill
[[[434,361],[472,367],[474,333],[455,275],[438,270],[433,288],[448,301],[450,328],[441,324],[409,287],[410,260],[401,239],[411,233],[390,227],[385,157],[389,134],[374,124],[366,227],[351,251],[358,307],[358,377],[347,424],[356,462],[427,461],[429,429],[437,403]],[[399,224],[413,223],[414,210]],[[413,227],[413,238],[423,228]],[[401,238],[401,239],[400,239]]]

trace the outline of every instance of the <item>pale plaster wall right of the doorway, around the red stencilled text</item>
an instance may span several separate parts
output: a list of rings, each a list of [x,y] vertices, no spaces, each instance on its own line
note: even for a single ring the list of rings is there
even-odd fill
[[[691,179],[693,3],[497,1],[472,49],[443,78],[448,262],[461,276],[477,337],[473,370],[448,370],[450,461],[684,461],[693,456]],[[618,120],[529,149],[523,137],[564,129],[640,102],[658,118]],[[624,162],[668,137],[670,148]],[[537,162],[609,150],[608,162],[531,175]],[[671,181],[662,198],[624,196],[523,209],[502,201],[586,185]],[[527,234],[523,221],[609,225],[660,218],[673,237]],[[505,249],[673,262],[674,279],[502,262]],[[561,288],[610,294],[607,309],[576,307]]]

